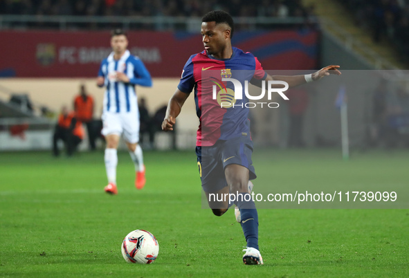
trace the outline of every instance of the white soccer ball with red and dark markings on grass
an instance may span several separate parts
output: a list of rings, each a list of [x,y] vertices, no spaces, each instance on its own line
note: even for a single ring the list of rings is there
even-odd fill
[[[121,251],[128,263],[153,263],[158,257],[159,244],[150,232],[134,230],[125,237]]]

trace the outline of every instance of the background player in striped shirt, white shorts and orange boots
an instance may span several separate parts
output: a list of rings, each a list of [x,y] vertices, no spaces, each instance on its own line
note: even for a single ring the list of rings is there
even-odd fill
[[[108,185],[104,188],[109,194],[117,194],[116,166],[117,149],[122,134],[135,164],[137,189],[145,185],[145,165],[139,141],[139,112],[135,85],[152,86],[152,79],[145,65],[138,57],[127,50],[127,35],[120,29],[111,35],[112,53],[104,59],[98,73],[97,85],[106,86],[104,109],[102,112],[102,135],[107,141],[104,160]]]

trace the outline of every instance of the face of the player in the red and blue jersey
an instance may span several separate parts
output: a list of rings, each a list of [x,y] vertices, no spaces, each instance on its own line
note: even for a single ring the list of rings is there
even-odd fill
[[[230,39],[230,29],[226,24],[216,24],[215,21],[201,23],[203,46],[210,55],[221,53]]]

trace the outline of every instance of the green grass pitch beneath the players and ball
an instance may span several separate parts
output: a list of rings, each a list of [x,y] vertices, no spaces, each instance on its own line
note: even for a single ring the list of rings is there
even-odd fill
[[[409,151],[340,159],[335,150],[255,150],[257,187],[409,187]],[[409,277],[409,210],[259,210],[264,266],[245,266],[232,211],[201,208],[194,151],[145,151],[147,185],[119,153],[118,195],[103,154],[0,154],[0,277]],[[292,189],[291,189],[292,190]],[[151,265],[122,259],[128,232],[152,232]]]

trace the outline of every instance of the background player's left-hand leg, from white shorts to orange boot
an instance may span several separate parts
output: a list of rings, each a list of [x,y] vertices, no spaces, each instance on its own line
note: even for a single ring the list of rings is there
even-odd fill
[[[118,145],[120,134],[122,133],[122,125],[117,114],[104,113],[102,115],[102,135],[105,136],[107,143],[104,153],[105,169],[107,172],[108,185],[104,188],[109,194],[117,194],[116,187],[116,166],[118,165]]]

